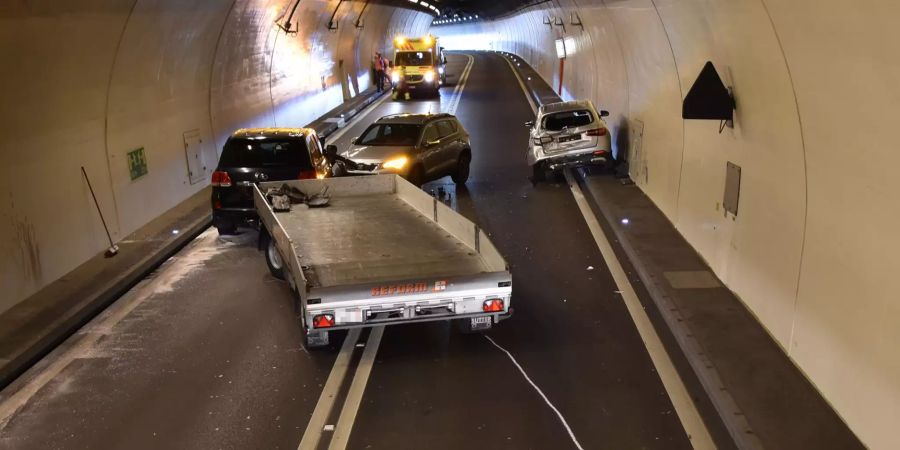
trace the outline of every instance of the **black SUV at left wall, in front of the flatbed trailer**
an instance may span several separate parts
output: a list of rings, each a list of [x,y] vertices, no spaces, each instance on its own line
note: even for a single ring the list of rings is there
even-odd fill
[[[335,152],[333,146],[329,151]],[[213,225],[219,234],[257,220],[253,185],[260,181],[325,178],[332,165],[309,128],[241,129],[225,142],[212,176]]]

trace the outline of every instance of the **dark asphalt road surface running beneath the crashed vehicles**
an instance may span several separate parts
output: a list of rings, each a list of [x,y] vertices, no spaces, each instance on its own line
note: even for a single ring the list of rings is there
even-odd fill
[[[440,99],[380,101],[334,143],[385,114],[455,112],[471,178],[424,189],[443,188],[490,233],[515,314],[487,337],[445,323],[387,327],[380,344],[363,332],[343,350],[318,447],[335,447],[331,426],[347,415],[353,449],[690,448],[572,193],[528,180],[533,115],[508,64],[449,58]],[[11,385],[0,449],[297,448],[346,333],[304,351],[288,286],[255,244],[253,232],[203,233]],[[367,383],[347,414],[354,378]]]

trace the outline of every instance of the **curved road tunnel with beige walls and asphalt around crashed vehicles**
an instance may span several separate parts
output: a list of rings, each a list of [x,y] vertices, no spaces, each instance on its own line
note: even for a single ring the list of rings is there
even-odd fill
[[[898,445],[897,6],[0,3],[0,448]],[[376,92],[374,55],[400,72],[421,36],[436,95]],[[610,165],[534,182],[523,124],[578,100],[609,112]],[[307,349],[272,230],[210,227],[226,142],[306,127],[347,155],[442,114],[468,180],[420,180],[431,217],[496,247],[515,314]],[[361,241],[406,229],[342,214]]]

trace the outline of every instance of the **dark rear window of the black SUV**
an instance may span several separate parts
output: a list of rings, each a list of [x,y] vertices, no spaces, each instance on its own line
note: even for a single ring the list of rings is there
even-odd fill
[[[231,138],[219,167],[290,166],[311,168],[305,138]]]

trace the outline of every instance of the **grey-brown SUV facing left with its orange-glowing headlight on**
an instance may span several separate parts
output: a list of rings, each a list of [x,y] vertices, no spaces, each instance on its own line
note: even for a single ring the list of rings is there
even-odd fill
[[[353,138],[342,153],[353,164],[351,175],[397,173],[416,186],[450,175],[457,184],[469,179],[469,133],[450,114],[384,116]]]

